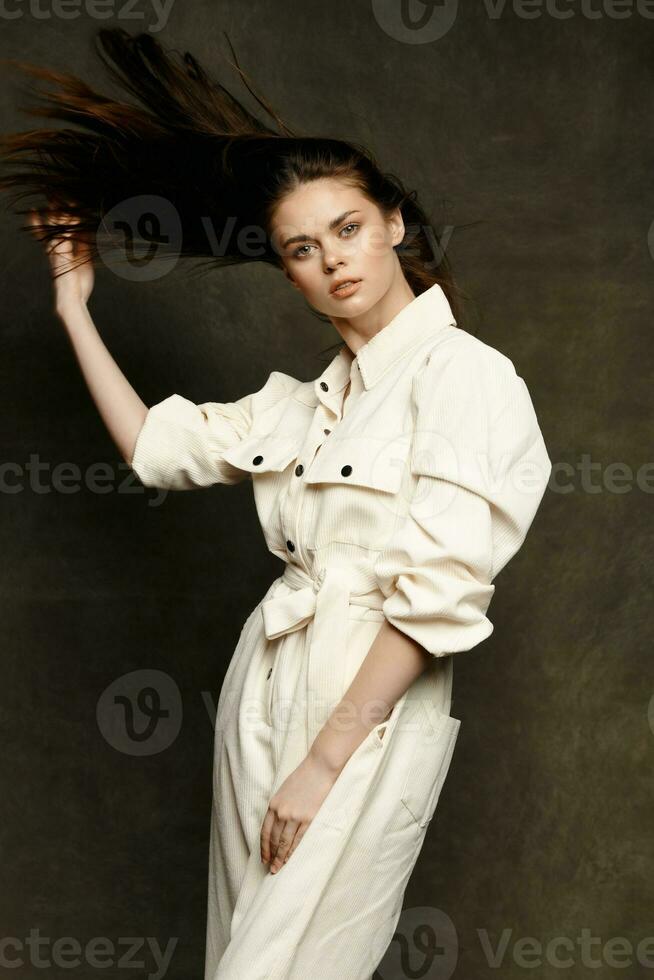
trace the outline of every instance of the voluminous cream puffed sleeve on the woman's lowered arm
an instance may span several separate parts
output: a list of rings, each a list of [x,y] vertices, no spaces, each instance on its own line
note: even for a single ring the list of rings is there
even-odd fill
[[[375,574],[386,619],[440,657],[492,633],[492,581],[522,545],[552,464],[524,380],[476,339],[432,352],[412,399],[414,490]]]

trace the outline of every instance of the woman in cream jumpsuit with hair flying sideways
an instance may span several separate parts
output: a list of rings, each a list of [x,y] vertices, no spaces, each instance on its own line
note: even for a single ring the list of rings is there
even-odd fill
[[[146,486],[251,479],[284,562],[218,704],[205,978],[369,980],[458,735],[452,654],[491,633],[492,580],[551,464],[512,362],[458,327],[414,194],[362,148],[277,117],[282,134],[267,129],[189,54],[179,67],[148,35],[99,37],[146,108],[28,66],[60,88],[41,111],[88,132],[7,138],[34,172],[2,184],[48,198],[31,226],[122,456]],[[235,402],[173,394],[148,409],[86,305],[108,215],[134,194],[173,205],[179,254],[281,270],[344,342],[322,374],[272,371]]]

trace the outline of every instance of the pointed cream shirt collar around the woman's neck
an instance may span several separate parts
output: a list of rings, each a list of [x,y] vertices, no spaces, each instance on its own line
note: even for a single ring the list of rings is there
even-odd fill
[[[355,369],[354,360],[358,363],[364,388],[368,390],[393,364],[427,337],[456,325],[445,293],[438,283],[434,283],[403,306],[385,327],[359,348],[356,356],[349,347],[341,348],[314,381],[314,392],[321,401],[331,401],[330,396],[341,392],[350,380],[351,371]]]

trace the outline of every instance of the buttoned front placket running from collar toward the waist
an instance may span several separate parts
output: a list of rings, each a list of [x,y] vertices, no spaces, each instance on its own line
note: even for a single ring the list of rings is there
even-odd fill
[[[280,508],[282,527],[284,533],[287,535],[286,549],[289,560],[304,567],[307,571],[309,571],[308,557],[302,548],[302,521],[307,519],[311,520],[311,514],[307,514],[304,508],[308,502],[307,497],[311,498],[309,502],[311,503],[314,495],[318,491],[315,487],[305,483],[302,476],[305,470],[311,465],[316,453],[320,451],[320,447],[325,439],[328,438],[334,426],[341,421],[345,413],[349,411],[351,404],[359,397],[363,390],[363,382],[356,358],[352,360],[350,366],[350,390],[347,399],[345,399],[345,403],[344,397],[348,383],[347,379],[343,380],[342,377],[337,377],[334,382],[330,382],[332,382],[332,379],[328,371],[315,382],[314,390],[318,398],[318,405],[316,406],[313,420],[309,426],[309,431],[300,450],[300,454],[295,462],[286,498]]]

